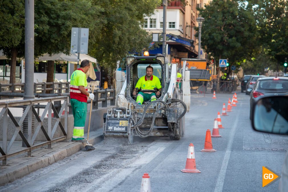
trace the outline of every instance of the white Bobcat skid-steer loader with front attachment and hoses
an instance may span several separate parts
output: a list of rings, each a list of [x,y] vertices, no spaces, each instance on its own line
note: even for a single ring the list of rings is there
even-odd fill
[[[155,101],[144,101],[140,105],[132,92],[139,78],[146,75],[149,65],[161,82],[161,94]],[[126,80],[118,94],[117,107],[104,115],[104,138],[127,137],[130,144],[134,136],[164,136],[180,140],[185,133],[185,113],[190,109],[190,74],[182,69],[180,87],[177,69],[178,65],[169,64],[164,56],[127,57]],[[157,92],[158,89],[139,91]]]

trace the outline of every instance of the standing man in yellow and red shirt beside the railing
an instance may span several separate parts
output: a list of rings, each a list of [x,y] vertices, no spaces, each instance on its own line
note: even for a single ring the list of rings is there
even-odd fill
[[[94,99],[93,93],[88,93],[86,73],[90,68],[88,60],[81,62],[80,68],[74,71],[70,81],[71,107],[74,117],[72,141],[85,143],[84,127],[87,115],[87,97]]]

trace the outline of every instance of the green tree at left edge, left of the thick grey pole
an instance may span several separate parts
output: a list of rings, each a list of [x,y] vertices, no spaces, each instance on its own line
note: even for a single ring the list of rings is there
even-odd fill
[[[0,1],[0,49],[11,59],[10,83],[15,83],[16,58],[24,57],[24,0]]]

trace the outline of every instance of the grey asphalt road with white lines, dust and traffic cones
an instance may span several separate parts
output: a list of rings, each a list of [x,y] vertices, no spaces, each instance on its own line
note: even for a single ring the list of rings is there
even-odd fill
[[[96,150],[80,151],[41,170],[37,170],[0,191],[29,192],[119,192],[140,191],[144,173],[149,173],[152,191],[277,191],[278,183],[262,187],[262,166],[281,173],[288,150],[288,137],[255,132],[249,120],[249,96],[238,93],[237,107],[221,116],[221,138],[212,138],[216,152],[204,148],[206,130],[212,132],[214,118],[232,94],[212,99],[192,94],[190,112],[185,115],[185,136],[169,138],[109,139],[95,145]],[[195,146],[197,169],[201,173],[182,173],[190,143]]]

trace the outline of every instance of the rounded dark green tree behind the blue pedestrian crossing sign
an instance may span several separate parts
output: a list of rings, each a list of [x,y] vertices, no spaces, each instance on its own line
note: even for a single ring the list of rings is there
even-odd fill
[[[217,64],[218,59],[227,58],[231,66],[257,52],[258,33],[251,7],[242,1],[214,0],[199,11],[205,18],[201,46]]]

